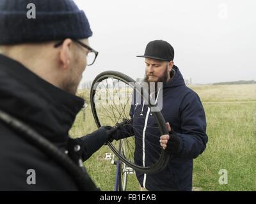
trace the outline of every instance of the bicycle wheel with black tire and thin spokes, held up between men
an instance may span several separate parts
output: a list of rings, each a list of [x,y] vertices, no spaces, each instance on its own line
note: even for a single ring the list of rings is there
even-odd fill
[[[148,108],[153,106],[148,103],[148,92],[140,85],[134,84],[135,81],[118,71],[105,71],[100,73],[92,84],[90,92],[90,102],[95,122],[100,126],[116,126],[125,120],[131,120],[129,115],[132,98],[134,93],[139,94],[148,104]],[[154,117],[155,126],[147,126],[147,128],[156,128],[157,134],[147,133],[145,135],[134,134],[123,139],[123,150],[120,153],[118,147],[119,142],[108,142],[110,149],[118,156],[127,166],[142,173],[156,173],[161,171],[168,163],[169,155],[164,152],[159,143],[161,135],[168,134],[163,115],[156,107],[154,112],[150,114]],[[147,121],[147,117],[141,116],[141,120]],[[140,126],[136,124],[127,124],[135,131],[141,131]],[[145,148],[147,145],[147,149]],[[138,162],[136,152],[143,151],[142,162]],[[154,154],[152,154],[154,152]],[[134,157],[135,156],[135,157]],[[147,159],[145,159],[147,156]]]

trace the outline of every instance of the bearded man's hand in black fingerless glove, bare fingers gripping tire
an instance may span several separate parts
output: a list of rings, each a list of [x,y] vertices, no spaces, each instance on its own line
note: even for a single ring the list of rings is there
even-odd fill
[[[182,142],[179,135],[173,131],[170,124],[166,122],[166,127],[169,131],[169,135],[162,135],[160,137],[160,145],[169,154],[177,154],[179,152],[180,143]]]

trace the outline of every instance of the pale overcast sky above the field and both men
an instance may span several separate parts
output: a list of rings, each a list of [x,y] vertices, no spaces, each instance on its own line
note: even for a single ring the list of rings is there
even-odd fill
[[[90,22],[90,45],[99,52],[83,82],[115,70],[143,78],[136,57],[148,41],[166,40],[174,62],[195,84],[256,80],[255,0],[75,0]]]

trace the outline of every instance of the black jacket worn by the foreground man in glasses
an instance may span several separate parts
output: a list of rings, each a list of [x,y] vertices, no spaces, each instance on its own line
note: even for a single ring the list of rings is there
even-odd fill
[[[69,141],[81,145],[83,161],[108,141],[104,129],[71,140],[68,131],[84,101],[38,77],[19,62],[0,55],[0,110],[28,124],[65,152]],[[74,152],[73,152],[74,153]],[[69,152],[72,154],[72,152]],[[36,184],[28,185],[28,170]],[[0,120],[0,191],[77,191],[60,164]]]

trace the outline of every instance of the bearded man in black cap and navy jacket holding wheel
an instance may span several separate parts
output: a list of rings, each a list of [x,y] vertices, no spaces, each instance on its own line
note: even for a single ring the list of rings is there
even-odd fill
[[[154,164],[152,158],[157,158],[157,152],[152,147],[159,141],[154,140],[152,135],[158,135],[161,146],[171,155],[171,159],[159,173],[136,172],[141,187],[148,191],[191,191],[193,159],[204,152],[207,143],[204,108],[199,96],[186,87],[179,68],[174,65],[174,50],[168,42],[150,41],[145,54],[138,57],[145,58],[145,82],[163,82],[163,90],[160,90],[163,91],[161,112],[170,134],[159,135],[157,128],[154,128],[154,117],[150,117],[150,108],[141,103],[131,106],[133,128],[129,124],[124,127],[125,132],[120,129],[113,138],[135,133],[140,140],[136,143],[134,161],[151,166]]]

